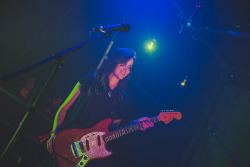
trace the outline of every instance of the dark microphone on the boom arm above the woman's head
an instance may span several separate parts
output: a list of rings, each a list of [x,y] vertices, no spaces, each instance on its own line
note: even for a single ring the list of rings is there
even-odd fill
[[[130,30],[130,25],[128,24],[116,24],[116,25],[106,25],[99,28],[93,28],[93,31],[100,31],[106,33],[106,31],[120,31],[128,32]]]

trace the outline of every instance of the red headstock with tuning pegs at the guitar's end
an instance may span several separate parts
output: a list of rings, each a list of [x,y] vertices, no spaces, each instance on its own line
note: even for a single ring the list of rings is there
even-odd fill
[[[159,114],[159,120],[165,122],[165,124],[168,124],[174,118],[177,120],[180,120],[182,117],[182,114],[180,112],[176,112],[174,110],[166,110],[166,111],[170,111],[170,112],[161,112]]]

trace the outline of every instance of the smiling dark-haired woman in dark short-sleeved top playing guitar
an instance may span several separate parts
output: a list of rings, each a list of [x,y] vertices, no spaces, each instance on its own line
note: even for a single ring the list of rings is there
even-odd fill
[[[134,51],[118,48],[94,75],[86,75],[79,80],[55,115],[51,136],[47,141],[50,153],[53,153],[54,137],[61,129],[91,128],[106,118],[113,120],[111,129],[119,126],[124,115],[129,112],[126,110],[129,100],[124,89],[134,61]],[[147,117],[132,122],[140,121],[144,121],[141,130],[154,126]]]

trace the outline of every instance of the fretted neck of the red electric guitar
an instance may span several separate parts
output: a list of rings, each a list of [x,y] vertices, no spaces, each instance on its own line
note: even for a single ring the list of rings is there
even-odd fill
[[[153,123],[156,123],[156,122],[159,122],[160,119],[158,116],[156,116],[156,117],[150,118],[150,121]],[[129,125],[127,127],[123,127],[121,129],[107,133],[107,134],[103,135],[103,140],[107,143],[111,140],[117,139],[117,138],[125,136],[129,133],[140,130],[142,128],[142,124],[143,124],[143,122],[134,123],[134,124]]]

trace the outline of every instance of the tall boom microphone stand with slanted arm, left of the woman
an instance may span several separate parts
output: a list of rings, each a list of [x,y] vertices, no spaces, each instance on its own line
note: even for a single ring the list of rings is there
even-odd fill
[[[27,118],[31,117],[31,114],[34,113],[34,111],[36,110],[36,106],[38,104],[38,101],[41,99],[42,95],[45,93],[45,90],[48,88],[49,84],[52,82],[53,78],[56,76],[56,74],[59,72],[59,70],[62,68],[63,64],[65,63],[65,58],[67,55],[79,50],[81,47],[90,44],[100,38],[103,37],[108,37],[110,36],[112,33],[112,31],[106,31],[104,34],[99,35],[93,39],[87,40],[79,45],[76,45],[72,48],[66,49],[64,51],[61,51],[59,53],[54,54],[54,56],[46,58],[38,63],[35,63],[33,65],[30,65],[24,69],[21,69],[19,71],[10,73],[6,76],[3,77],[2,81],[6,82],[12,78],[15,78],[17,76],[19,76],[20,74],[27,72],[35,67],[38,67],[46,62],[49,62],[51,60],[55,60],[55,65],[51,71],[51,73],[49,74],[48,79],[46,80],[44,86],[41,88],[40,92],[38,93],[37,97],[35,98],[34,102],[31,105],[27,105],[26,106],[26,113],[23,116],[22,120],[19,123],[18,128],[16,129],[15,133],[13,134],[12,138],[10,139],[9,143],[7,144],[7,146],[5,147],[4,151],[2,152],[1,156],[0,156],[0,166],[4,165],[4,163],[7,163],[7,159],[9,158],[9,154],[11,152],[11,149],[13,148],[14,143],[17,141],[18,136],[20,136],[21,134],[21,130],[23,129],[23,126],[26,123]]]

